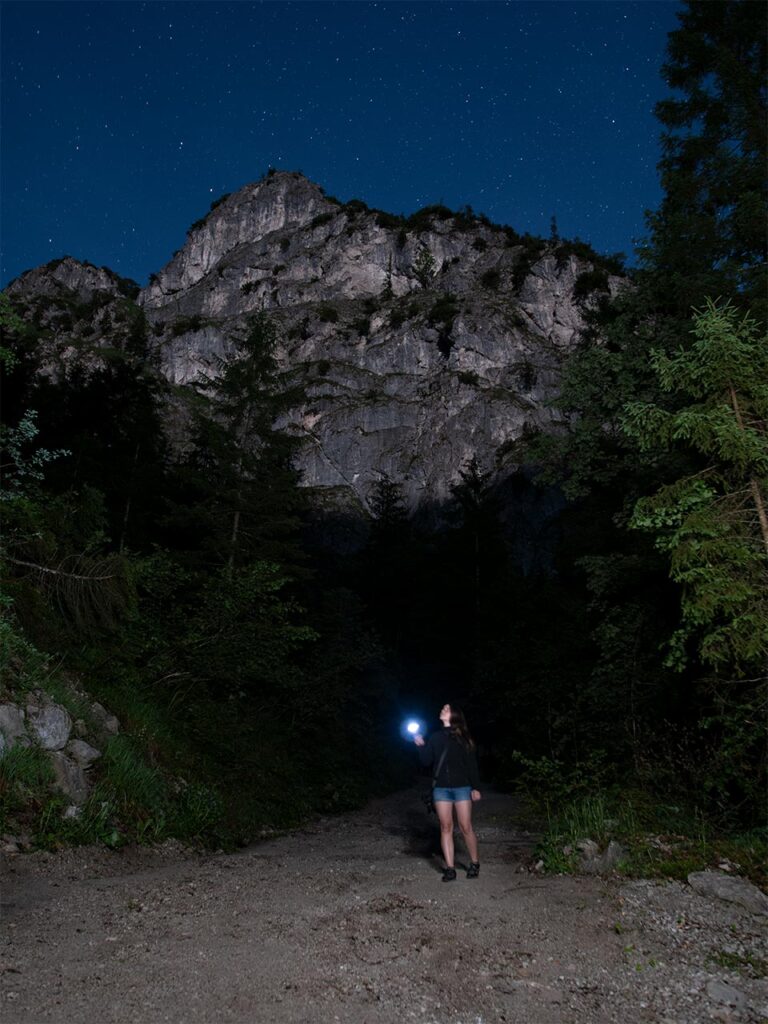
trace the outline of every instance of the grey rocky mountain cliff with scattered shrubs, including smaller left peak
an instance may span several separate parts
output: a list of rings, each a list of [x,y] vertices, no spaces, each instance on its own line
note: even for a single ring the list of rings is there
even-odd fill
[[[583,245],[470,210],[394,217],[275,172],[213,204],[135,302],[174,384],[211,373],[265,309],[283,380],[302,385],[278,426],[301,440],[303,484],[365,509],[387,474],[416,508],[442,501],[471,458],[500,478],[516,468],[515,441],[556,419],[585,309],[621,281]],[[83,346],[130,345],[133,296],[110,271],[65,259],[9,291],[52,329],[49,372]]]

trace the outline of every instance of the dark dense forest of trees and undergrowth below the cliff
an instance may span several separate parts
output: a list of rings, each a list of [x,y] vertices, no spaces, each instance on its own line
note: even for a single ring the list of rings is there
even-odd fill
[[[36,373],[50,338],[3,296],[2,698],[84,687],[123,729],[67,820],[35,750],[5,752],[0,831],[248,842],[408,784],[400,719],[447,699],[485,778],[546,805],[552,866],[568,828],[697,839],[681,863],[730,837],[759,859],[765,6],[688,3],[663,75],[664,199],[566,367],[567,429],[526,436],[502,486],[462,467],[439,526],[383,478],[365,544],[317,543],[271,429],[267,314],[214,378],[172,388],[130,284],[123,347],[58,376]],[[531,479],[562,495],[536,570],[503,515]]]

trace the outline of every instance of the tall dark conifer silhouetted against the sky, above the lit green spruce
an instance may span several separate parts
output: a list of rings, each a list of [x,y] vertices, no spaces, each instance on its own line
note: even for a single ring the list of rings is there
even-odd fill
[[[722,296],[766,316],[768,7],[691,0],[663,75],[664,200],[643,258],[662,308],[687,315]]]

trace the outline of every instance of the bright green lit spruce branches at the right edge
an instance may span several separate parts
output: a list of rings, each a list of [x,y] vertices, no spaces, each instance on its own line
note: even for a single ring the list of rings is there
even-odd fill
[[[652,355],[680,403],[630,402],[625,429],[646,451],[691,447],[703,467],[638,502],[631,525],[656,535],[682,585],[673,662],[692,636],[702,662],[744,674],[768,660],[768,349],[729,303],[693,325],[690,348]]]

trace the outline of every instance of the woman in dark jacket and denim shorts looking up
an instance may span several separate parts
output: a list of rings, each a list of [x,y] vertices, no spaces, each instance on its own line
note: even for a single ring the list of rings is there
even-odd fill
[[[480,799],[480,776],[477,771],[475,744],[469,734],[463,713],[451,705],[443,705],[440,712],[442,728],[424,741],[414,736],[421,748],[419,758],[425,766],[432,766],[434,788],[432,801],[440,822],[440,847],[445,858],[443,882],[454,882],[454,808],[464,842],[467,845],[470,865],[467,878],[476,879],[480,873],[477,857],[477,837],[472,828],[472,803]]]

